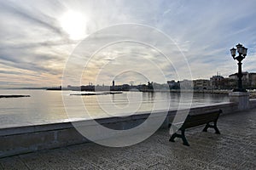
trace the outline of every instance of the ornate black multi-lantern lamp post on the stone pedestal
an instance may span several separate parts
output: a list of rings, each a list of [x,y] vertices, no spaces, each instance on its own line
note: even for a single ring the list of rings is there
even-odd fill
[[[238,53],[238,55],[236,56],[236,51]],[[242,77],[242,73],[241,73],[241,61],[242,59],[245,59],[245,57],[247,56],[247,48],[243,47],[240,43],[238,43],[236,45],[236,48],[231,48],[230,49],[230,53],[233,57],[233,59],[236,59],[238,61],[237,65],[238,65],[238,73],[237,73],[237,77],[238,77],[238,88],[235,88],[233,90],[233,92],[247,92],[246,89],[242,88],[242,83],[241,83],[241,77]]]

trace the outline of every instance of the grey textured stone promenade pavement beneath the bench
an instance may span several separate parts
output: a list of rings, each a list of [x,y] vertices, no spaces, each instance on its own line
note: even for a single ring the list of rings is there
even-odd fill
[[[140,144],[77,144],[0,159],[0,169],[256,169],[256,109],[220,116],[221,134],[188,130],[190,146],[160,129]]]

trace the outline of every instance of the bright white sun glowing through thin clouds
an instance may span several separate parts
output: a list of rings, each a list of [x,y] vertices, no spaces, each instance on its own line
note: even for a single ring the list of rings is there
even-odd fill
[[[87,19],[84,14],[68,11],[60,18],[61,27],[73,40],[79,40],[86,36]]]

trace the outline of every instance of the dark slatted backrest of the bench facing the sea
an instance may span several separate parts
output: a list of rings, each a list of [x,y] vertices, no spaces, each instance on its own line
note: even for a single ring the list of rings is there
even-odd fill
[[[206,124],[207,122],[215,122],[218,120],[220,113],[222,113],[221,110],[211,111],[200,115],[188,115],[181,128],[196,127]]]

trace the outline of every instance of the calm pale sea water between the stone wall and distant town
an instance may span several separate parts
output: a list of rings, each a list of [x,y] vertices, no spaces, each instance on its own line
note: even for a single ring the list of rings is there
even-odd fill
[[[127,116],[140,111],[177,109],[189,104],[189,95],[177,93],[124,92],[123,94],[78,96],[79,92],[46,90],[0,90],[3,94],[29,94],[29,98],[0,99],[0,127],[15,127],[69,119]],[[65,99],[65,106],[62,95]],[[186,95],[186,94],[184,94]],[[224,94],[194,94],[192,106],[229,101]],[[65,110],[67,108],[67,111]],[[86,114],[85,114],[86,113]]]

